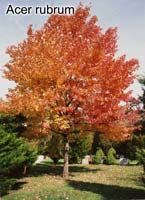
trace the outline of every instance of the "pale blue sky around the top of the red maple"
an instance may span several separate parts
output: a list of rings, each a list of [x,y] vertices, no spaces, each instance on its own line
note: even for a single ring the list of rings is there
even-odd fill
[[[33,24],[40,28],[48,15],[6,15],[9,4],[14,6],[74,6],[80,0],[1,0],[0,1],[0,69],[9,60],[5,53],[9,45],[17,44],[26,37],[27,27]],[[83,5],[91,2],[91,15],[96,15],[98,24],[105,31],[108,27],[118,27],[118,55],[137,58],[140,62],[139,75],[145,75],[145,0],[82,0]],[[12,82],[2,78],[0,72],[0,97],[4,97]],[[131,86],[134,96],[141,94],[137,81]]]

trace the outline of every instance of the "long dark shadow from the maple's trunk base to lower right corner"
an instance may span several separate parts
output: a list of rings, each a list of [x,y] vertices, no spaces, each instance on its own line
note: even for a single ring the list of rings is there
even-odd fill
[[[80,191],[102,195],[102,200],[145,199],[145,190],[143,189],[71,180],[68,181],[68,185]]]

